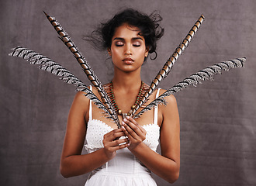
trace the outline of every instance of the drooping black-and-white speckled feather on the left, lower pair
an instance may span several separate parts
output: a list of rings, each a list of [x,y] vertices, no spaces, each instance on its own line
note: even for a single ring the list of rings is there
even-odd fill
[[[54,60],[50,60],[50,58],[41,55],[40,53],[36,53],[33,50],[29,50],[23,47],[16,47],[13,49],[12,53],[9,53],[9,56],[22,57],[27,60],[29,64],[38,64],[39,68],[43,71],[49,71],[52,74],[55,74],[60,79],[66,82],[67,84],[76,85],[77,91],[85,92],[85,96],[90,98],[98,108],[101,108],[104,113],[106,113],[107,118],[112,119],[112,115],[109,113],[109,110],[105,107],[105,105],[100,102],[99,98],[88,88],[86,85],[75,77],[70,71],[67,71],[66,68],[62,67],[60,64],[54,62]]]

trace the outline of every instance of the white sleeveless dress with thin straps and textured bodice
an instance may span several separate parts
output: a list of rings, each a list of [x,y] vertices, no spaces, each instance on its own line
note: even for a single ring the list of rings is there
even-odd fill
[[[91,88],[92,89],[92,88]],[[159,95],[160,88],[157,90]],[[157,125],[157,112],[158,107],[154,108],[154,123],[144,125],[147,131],[146,140],[144,143],[150,147],[151,150],[156,151],[159,144],[160,127]],[[105,122],[98,119],[92,119],[92,101],[89,105],[89,120],[86,130],[86,145],[85,149],[88,153],[103,148],[103,136],[112,131],[112,127],[108,126]],[[137,160],[127,148],[116,151],[116,157],[109,160],[106,164],[102,165],[88,177],[85,183],[86,186],[119,186],[119,185],[140,185],[140,186],[155,186],[157,185],[151,177],[150,171]]]

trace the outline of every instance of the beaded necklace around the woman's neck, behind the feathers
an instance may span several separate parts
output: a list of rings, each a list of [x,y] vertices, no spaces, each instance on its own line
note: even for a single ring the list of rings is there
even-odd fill
[[[106,89],[106,92],[107,92],[107,94],[109,96],[109,99],[110,99],[112,105],[115,108],[116,113],[118,115],[123,115],[123,118],[126,117],[126,115],[130,115],[131,112],[123,113],[123,111],[117,105],[116,98],[115,98],[114,91],[113,91],[112,81],[109,84],[106,84],[104,86],[104,88]],[[148,90],[148,88],[149,88],[149,86],[147,84],[145,84],[144,81],[141,81],[140,91],[139,91],[139,93],[137,95],[136,101],[131,106],[131,110],[130,111],[133,111],[133,109],[137,107],[137,104],[139,104],[140,100],[143,98],[143,96],[144,96],[145,92]]]

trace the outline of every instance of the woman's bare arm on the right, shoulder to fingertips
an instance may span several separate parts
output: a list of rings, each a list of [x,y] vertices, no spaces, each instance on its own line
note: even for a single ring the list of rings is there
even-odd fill
[[[173,95],[168,96],[166,101],[168,105],[159,105],[158,112],[158,122],[161,121],[161,155],[141,143],[145,134],[143,130],[139,131],[142,127],[134,119],[128,119],[125,122],[124,133],[129,136],[130,151],[154,174],[173,183],[179,176],[180,126],[175,97]]]

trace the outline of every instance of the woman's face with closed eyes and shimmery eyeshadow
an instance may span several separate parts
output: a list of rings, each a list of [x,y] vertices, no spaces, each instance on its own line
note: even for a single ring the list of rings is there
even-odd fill
[[[125,72],[140,70],[148,50],[144,36],[140,36],[139,33],[140,29],[126,23],[116,28],[111,48],[108,50],[115,70]]]

